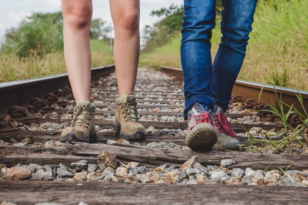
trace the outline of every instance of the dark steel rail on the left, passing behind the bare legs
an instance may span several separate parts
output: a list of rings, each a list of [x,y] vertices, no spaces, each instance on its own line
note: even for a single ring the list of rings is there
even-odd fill
[[[92,68],[92,76],[107,74],[114,71],[115,65]],[[69,86],[67,74],[59,74],[29,80],[14,81],[0,84],[0,113],[14,105],[27,105],[34,97],[54,92]]]

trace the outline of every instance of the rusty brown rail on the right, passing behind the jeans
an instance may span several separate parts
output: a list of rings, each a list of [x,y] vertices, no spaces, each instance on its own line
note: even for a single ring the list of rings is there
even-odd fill
[[[180,68],[161,66],[161,71],[179,79],[184,79],[182,69]],[[258,102],[262,88],[263,90],[260,96],[260,101]],[[258,102],[258,104],[272,104],[278,106],[278,96],[278,99],[281,99],[282,102],[287,105],[293,104],[296,109],[303,112],[303,108],[297,98],[299,93],[301,93],[304,107],[306,111],[308,111],[308,92],[304,90],[299,91],[292,88],[274,87],[272,85],[262,85],[242,80],[237,80],[232,90],[232,94],[236,94],[236,97],[240,98],[238,100],[253,99],[255,102]]]

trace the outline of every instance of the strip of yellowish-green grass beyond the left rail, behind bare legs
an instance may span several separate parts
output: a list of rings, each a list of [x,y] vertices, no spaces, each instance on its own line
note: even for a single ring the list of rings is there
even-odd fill
[[[113,63],[113,51],[102,41],[92,40],[92,67]],[[65,73],[62,51],[38,56],[18,57],[17,54],[0,55],[0,83]]]

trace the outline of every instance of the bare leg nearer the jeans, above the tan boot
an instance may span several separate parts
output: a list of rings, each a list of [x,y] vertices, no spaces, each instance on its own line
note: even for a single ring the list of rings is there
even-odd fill
[[[139,53],[140,0],[109,0],[115,28],[114,61],[119,95],[133,92],[136,84]]]

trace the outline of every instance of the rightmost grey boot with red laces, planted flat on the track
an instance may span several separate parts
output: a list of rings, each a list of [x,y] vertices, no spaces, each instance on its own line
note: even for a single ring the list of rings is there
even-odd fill
[[[217,133],[216,146],[222,149],[236,150],[239,148],[239,139],[223,114],[222,108],[214,106],[214,123]]]

